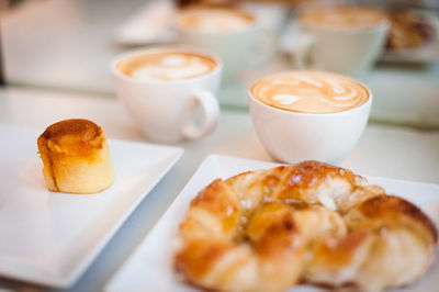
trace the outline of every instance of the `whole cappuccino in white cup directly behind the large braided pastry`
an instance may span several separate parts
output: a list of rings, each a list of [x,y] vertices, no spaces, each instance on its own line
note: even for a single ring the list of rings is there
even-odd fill
[[[369,117],[372,93],[360,81],[324,71],[285,71],[249,90],[256,133],[275,160],[339,164],[352,150]]]

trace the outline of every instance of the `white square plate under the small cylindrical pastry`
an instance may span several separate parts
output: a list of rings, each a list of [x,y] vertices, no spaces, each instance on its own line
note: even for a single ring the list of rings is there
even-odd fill
[[[67,288],[183,150],[109,139],[113,186],[98,194],[56,193],[44,182],[40,134],[0,124],[0,274]]]

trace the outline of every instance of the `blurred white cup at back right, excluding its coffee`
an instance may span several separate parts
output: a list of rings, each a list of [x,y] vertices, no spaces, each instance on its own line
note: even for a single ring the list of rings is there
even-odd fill
[[[309,25],[297,20],[291,49],[299,69],[317,69],[359,76],[370,70],[384,48],[387,21],[367,27]]]

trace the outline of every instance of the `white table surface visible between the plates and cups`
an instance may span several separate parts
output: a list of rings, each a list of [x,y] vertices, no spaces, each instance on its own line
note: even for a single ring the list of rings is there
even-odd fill
[[[52,123],[69,117],[92,120],[112,138],[147,142],[115,99],[57,91],[0,89],[0,123],[43,132]],[[243,111],[223,111],[218,127],[212,135],[178,146],[184,148],[183,157],[140,203],[70,291],[102,290],[206,155],[215,153],[271,160],[256,136],[249,113]],[[360,175],[439,183],[439,131],[420,132],[369,124],[359,144],[341,166]],[[0,290],[30,287],[33,288],[0,278]]]

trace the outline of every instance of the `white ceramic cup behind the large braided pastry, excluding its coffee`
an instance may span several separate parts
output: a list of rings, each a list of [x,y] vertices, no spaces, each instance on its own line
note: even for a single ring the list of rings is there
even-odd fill
[[[353,149],[368,123],[372,93],[364,88],[369,92],[365,103],[335,113],[277,109],[258,100],[250,90],[250,113],[259,141],[279,161],[312,159],[337,165]]]

